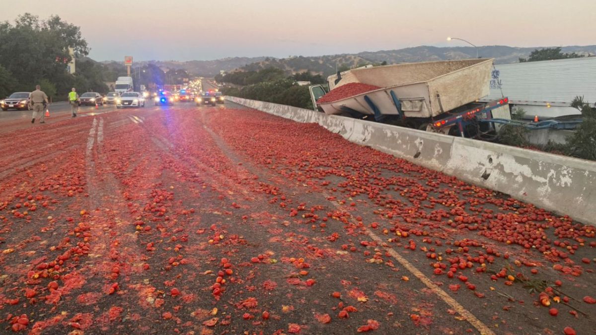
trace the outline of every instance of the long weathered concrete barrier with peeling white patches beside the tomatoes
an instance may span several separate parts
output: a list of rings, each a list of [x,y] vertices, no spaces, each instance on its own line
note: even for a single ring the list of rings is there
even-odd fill
[[[349,141],[596,224],[596,162],[263,101],[226,99],[297,122],[318,123]]]

